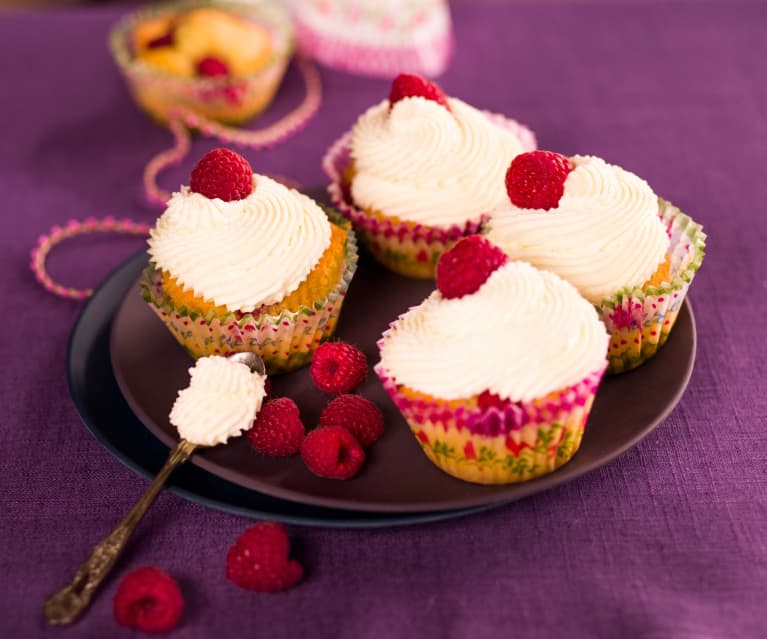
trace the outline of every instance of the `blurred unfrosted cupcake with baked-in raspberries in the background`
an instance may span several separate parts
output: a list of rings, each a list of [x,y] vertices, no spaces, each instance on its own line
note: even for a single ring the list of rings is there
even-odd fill
[[[110,45],[138,104],[165,122],[174,109],[238,124],[271,101],[293,47],[290,18],[270,2],[177,2],[143,9]]]

